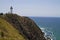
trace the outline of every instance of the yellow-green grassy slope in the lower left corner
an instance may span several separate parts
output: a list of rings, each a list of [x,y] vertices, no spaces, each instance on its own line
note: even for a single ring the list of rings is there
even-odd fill
[[[4,36],[1,37],[1,32]],[[4,19],[0,18],[0,40],[25,40],[19,32]]]

